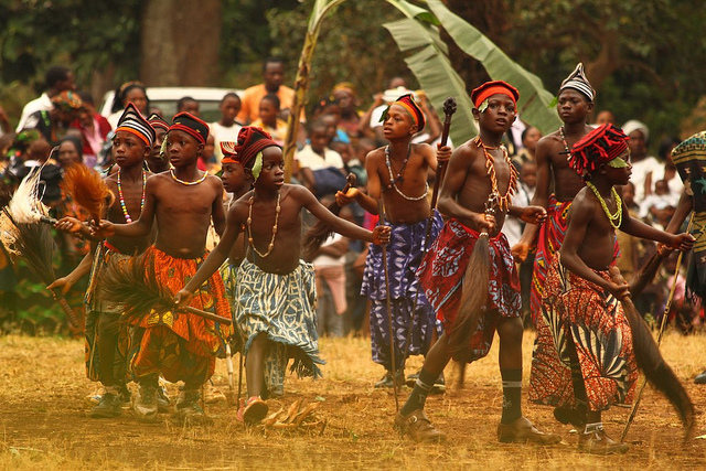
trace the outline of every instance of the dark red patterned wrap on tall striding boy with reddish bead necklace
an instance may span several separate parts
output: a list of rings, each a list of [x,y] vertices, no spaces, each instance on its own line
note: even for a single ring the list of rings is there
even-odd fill
[[[461,301],[463,277],[479,233],[457,220],[443,225],[441,233],[424,257],[417,277],[424,293],[448,332],[453,325]],[[507,238],[500,234],[490,239],[490,277],[488,304],[475,332],[470,336],[469,363],[488,355],[501,318],[521,315],[520,279],[510,253]]]

